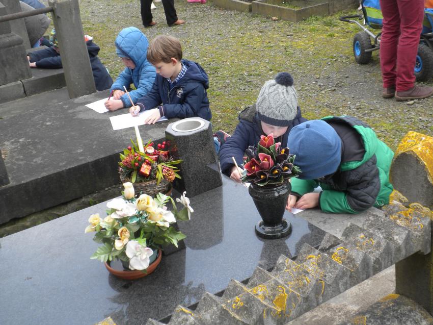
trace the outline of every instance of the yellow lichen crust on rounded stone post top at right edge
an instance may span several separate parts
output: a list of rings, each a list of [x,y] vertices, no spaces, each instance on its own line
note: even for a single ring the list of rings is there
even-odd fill
[[[433,184],[433,138],[409,131],[398,144],[394,159],[408,152],[415,154],[424,163],[428,171],[428,180]]]

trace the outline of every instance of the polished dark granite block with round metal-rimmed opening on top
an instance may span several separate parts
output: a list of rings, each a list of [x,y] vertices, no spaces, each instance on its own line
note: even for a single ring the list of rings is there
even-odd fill
[[[176,121],[167,127],[166,138],[173,158],[183,160],[182,178],[174,181],[174,188],[192,197],[223,184],[209,121],[200,117]]]

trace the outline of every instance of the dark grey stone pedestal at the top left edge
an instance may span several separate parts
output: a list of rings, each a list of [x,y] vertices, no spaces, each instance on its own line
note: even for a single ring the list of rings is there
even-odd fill
[[[6,7],[0,3],[0,16],[6,14]],[[9,21],[0,22],[0,66],[0,85],[32,77],[22,38],[11,33]]]

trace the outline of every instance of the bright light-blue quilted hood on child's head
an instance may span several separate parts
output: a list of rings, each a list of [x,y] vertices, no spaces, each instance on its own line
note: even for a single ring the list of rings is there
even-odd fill
[[[149,46],[147,37],[138,28],[127,27],[120,31],[114,43],[121,53],[134,62],[136,69],[140,70],[141,65],[146,61]]]

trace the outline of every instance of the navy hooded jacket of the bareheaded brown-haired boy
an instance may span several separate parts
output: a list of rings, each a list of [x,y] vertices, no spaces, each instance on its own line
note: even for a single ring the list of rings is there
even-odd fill
[[[152,109],[163,104],[164,116],[167,118],[186,118],[198,116],[210,120],[212,114],[206,89],[209,79],[200,64],[183,60],[187,67],[185,75],[170,89],[170,83],[156,74],[152,90],[137,102],[141,110]]]

